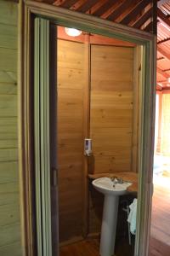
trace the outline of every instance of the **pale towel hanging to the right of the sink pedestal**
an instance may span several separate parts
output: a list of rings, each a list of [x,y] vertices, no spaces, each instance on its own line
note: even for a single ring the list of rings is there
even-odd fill
[[[136,212],[137,212],[137,199],[133,200],[133,203],[129,206],[130,213],[127,218],[127,222],[130,224],[130,232],[136,234]]]

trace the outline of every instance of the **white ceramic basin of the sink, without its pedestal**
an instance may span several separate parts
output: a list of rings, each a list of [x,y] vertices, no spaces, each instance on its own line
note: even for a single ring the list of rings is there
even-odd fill
[[[113,182],[110,177],[99,177],[93,182],[94,188],[106,195],[125,195],[127,193],[127,188],[132,185],[132,183],[116,183],[113,187]]]

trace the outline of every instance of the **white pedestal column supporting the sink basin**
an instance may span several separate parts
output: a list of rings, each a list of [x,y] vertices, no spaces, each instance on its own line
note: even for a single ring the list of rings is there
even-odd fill
[[[119,196],[105,195],[99,249],[101,256],[114,255],[118,202]]]

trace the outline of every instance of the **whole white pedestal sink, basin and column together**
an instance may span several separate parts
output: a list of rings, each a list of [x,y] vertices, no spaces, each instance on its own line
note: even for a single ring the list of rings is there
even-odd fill
[[[116,183],[113,186],[110,177],[100,177],[92,183],[95,189],[105,195],[99,253],[101,256],[112,256],[115,252],[119,195],[127,194],[127,187],[132,183]]]

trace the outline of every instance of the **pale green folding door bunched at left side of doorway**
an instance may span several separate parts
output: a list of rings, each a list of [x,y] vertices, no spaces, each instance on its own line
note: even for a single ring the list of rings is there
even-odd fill
[[[37,256],[52,255],[49,148],[49,21],[35,19],[34,154]]]

